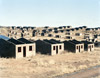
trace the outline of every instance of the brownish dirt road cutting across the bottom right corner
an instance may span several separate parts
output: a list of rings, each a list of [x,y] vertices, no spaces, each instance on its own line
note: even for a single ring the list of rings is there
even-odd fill
[[[100,75],[100,65],[54,78],[93,78]]]

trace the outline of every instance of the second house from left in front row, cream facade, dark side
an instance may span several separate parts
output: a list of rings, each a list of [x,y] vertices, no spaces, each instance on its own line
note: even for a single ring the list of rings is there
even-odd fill
[[[60,41],[37,40],[36,47],[36,51],[41,52],[42,54],[56,55],[64,51],[64,44]]]

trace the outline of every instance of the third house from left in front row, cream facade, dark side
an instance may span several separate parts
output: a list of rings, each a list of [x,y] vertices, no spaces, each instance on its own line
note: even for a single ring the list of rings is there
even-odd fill
[[[64,43],[65,50],[75,52],[75,53],[84,51],[84,44],[77,40],[63,41],[63,43]]]

